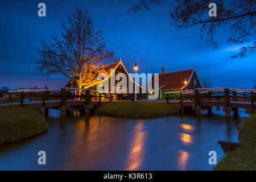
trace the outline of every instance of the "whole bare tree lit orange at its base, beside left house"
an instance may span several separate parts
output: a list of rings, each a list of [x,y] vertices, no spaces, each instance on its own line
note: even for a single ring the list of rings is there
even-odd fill
[[[106,49],[102,31],[93,30],[93,20],[87,11],[76,9],[63,23],[63,34],[53,32],[51,44],[42,43],[37,49],[42,59],[37,61],[40,74],[48,77],[63,74],[75,81],[79,88],[82,84],[96,79],[106,64],[113,61],[114,52]]]

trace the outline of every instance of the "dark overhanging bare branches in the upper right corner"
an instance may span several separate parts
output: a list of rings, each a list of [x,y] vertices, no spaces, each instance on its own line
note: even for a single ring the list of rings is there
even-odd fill
[[[137,13],[141,9],[151,10],[151,5],[160,5],[165,0],[142,0],[133,3],[129,13]],[[175,1],[174,1],[175,2]],[[255,0],[234,0],[227,2],[216,0],[217,16],[208,16],[208,5],[211,0],[176,0],[174,9],[170,11],[171,24],[178,30],[201,24],[201,39],[206,44],[217,47],[214,35],[218,28],[229,26],[230,36],[228,43],[241,44],[240,52],[234,57],[243,57],[249,53],[255,53],[256,28]]]

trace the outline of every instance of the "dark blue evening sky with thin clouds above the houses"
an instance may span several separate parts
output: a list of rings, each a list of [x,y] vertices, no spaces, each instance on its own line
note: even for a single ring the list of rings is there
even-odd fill
[[[47,16],[39,18],[38,3],[44,2]],[[39,76],[36,60],[40,59],[35,48],[42,41],[51,42],[51,31],[60,33],[61,22],[76,7],[87,9],[94,20],[94,27],[105,32],[108,48],[122,57],[128,72],[137,61],[140,73],[159,73],[195,68],[199,77],[211,77],[214,86],[251,89],[255,74],[255,55],[232,59],[237,45],[226,43],[229,32],[220,29],[216,39],[219,46],[204,44],[200,27],[177,31],[170,25],[171,1],[153,7],[152,11],[128,14],[133,2],[118,1],[12,1],[0,2],[0,86],[19,88],[41,86],[60,88],[68,81],[63,76],[46,79]],[[208,12],[206,12],[208,13]]]

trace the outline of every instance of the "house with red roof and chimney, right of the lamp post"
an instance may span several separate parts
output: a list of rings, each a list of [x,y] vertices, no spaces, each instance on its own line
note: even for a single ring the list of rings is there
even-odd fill
[[[166,98],[166,94],[164,94],[165,92],[204,88],[195,68],[169,73],[164,73],[164,68],[162,68],[162,73],[159,74],[159,85],[154,85],[154,76],[152,76],[150,82],[152,82],[152,87],[158,88],[159,99]],[[178,94],[173,93],[169,94],[169,96],[176,97]]]

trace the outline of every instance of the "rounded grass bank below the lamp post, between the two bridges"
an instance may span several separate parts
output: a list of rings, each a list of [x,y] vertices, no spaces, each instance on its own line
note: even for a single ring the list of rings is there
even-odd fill
[[[178,108],[167,103],[106,102],[96,110],[96,113],[122,118],[158,118],[176,114]]]

